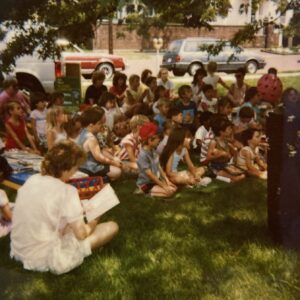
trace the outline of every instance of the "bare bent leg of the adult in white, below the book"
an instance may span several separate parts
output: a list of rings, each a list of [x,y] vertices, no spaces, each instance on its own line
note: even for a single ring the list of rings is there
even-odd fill
[[[108,243],[118,233],[119,226],[115,222],[100,223],[87,239],[92,249],[96,249]]]

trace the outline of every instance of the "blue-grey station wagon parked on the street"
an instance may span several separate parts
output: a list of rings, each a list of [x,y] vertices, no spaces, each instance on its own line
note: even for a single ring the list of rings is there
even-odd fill
[[[218,42],[220,40],[213,38],[174,40],[163,56],[161,67],[173,71],[175,76],[183,76],[186,72],[194,75],[197,69],[205,67],[209,61],[217,63],[218,72],[234,72],[240,67],[245,67],[248,73],[253,74],[265,67],[266,62],[262,57],[242,48],[240,53],[236,53],[229,42],[226,42],[218,55],[210,55],[201,50],[203,45],[216,45]],[[230,57],[232,59],[228,60]]]

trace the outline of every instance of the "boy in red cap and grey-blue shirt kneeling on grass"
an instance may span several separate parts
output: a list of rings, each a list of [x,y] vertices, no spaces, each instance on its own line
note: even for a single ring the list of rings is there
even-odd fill
[[[138,192],[155,197],[171,197],[176,192],[176,186],[167,178],[159,164],[155,151],[159,144],[158,127],[154,123],[145,123],[140,129],[143,147],[138,157],[139,175],[137,179]]]

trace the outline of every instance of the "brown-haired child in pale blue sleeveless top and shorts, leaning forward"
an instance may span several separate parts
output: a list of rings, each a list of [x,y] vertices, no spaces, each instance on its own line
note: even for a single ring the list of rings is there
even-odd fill
[[[81,115],[82,131],[78,140],[87,160],[80,166],[80,171],[89,176],[108,176],[110,180],[118,179],[122,164],[113,156],[103,153],[96,138],[105,123],[105,113],[102,108],[88,108]]]

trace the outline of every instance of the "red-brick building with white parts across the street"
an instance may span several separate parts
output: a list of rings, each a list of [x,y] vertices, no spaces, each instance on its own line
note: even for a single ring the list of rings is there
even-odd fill
[[[275,20],[278,16],[276,11],[277,1],[264,0],[260,3],[255,12],[251,8],[251,0],[231,0],[231,8],[226,18],[217,17],[212,23],[214,30],[200,28],[187,28],[179,24],[169,24],[164,30],[152,28],[150,36],[161,37],[164,41],[163,48],[167,48],[170,41],[185,37],[215,37],[220,39],[230,39],[233,35],[247,23],[254,20]],[[133,0],[131,4],[122,7],[117,12],[117,18],[113,21],[113,47],[114,49],[153,49],[152,38],[143,39],[135,31],[127,31],[124,24],[126,16],[132,12],[142,11],[143,6],[138,0]],[[152,12],[154,14],[154,12]],[[292,11],[287,11],[284,16],[276,20],[275,25],[260,30],[252,42],[242,45],[244,47],[277,47],[282,44],[282,30],[278,25],[287,25],[293,15]],[[277,28],[276,28],[277,27]],[[95,31],[93,40],[94,49],[108,49],[108,23],[103,23]]]

